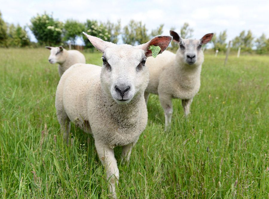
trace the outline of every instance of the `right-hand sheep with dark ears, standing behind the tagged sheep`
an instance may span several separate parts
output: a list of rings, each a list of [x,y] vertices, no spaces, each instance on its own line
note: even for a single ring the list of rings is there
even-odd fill
[[[169,130],[172,119],[172,98],[180,98],[187,117],[193,97],[200,89],[200,74],[204,53],[203,44],[210,42],[213,33],[206,34],[200,40],[182,39],[170,31],[173,40],[180,46],[176,54],[165,51],[163,54],[146,61],[149,68],[149,84],[145,91],[145,100],[149,93],[159,95],[165,116],[165,130]]]

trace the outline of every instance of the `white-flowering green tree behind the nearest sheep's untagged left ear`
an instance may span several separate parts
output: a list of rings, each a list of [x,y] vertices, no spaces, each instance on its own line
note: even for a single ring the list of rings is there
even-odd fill
[[[85,23],[85,32],[91,36],[98,37],[104,41],[110,41],[111,35],[108,32],[108,29],[104,26],[103,23],[99,23],[96,20],[87,19]],[[86,37],[84,38],[84,43],[86,48],[94,48],[94,46],[89,42]]]

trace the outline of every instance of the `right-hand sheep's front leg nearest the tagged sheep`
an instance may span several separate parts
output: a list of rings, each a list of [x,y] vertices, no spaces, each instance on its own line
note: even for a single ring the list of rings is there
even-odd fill
[[[172,98],[168,95],[159,95],[159,98],[164,110],[164,130],[168,131],[170,129],[173,113]]]

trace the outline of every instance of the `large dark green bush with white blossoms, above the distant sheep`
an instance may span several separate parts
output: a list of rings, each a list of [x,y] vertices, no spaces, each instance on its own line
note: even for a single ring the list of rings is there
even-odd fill
[[[63,23],[46,12],[31,18],[30,29],[41,45],[59,45],[62,42]]]

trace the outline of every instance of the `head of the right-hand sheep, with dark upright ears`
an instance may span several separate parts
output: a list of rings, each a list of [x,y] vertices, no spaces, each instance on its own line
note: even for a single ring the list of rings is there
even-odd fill
[[[204,53],[202,51],[202,45],[210,42],[213,37],[213,33],[204,35],[200,40],[196,39],[182,39],[179,35],[170,31],[170,35],[175,42],[178,42],[179,48],[177,51],[177,59],[187,65],[198,66],[204,62]]]

